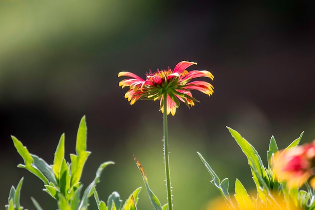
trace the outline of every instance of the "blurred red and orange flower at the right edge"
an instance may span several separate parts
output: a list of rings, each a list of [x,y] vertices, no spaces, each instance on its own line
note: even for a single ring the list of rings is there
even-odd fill
[[[300,187],[309,181],[315,188],[314,175],[315,141],[293,149],[286,149],[275,154],[272,165],[274,175],[285,181],[288,187]]]

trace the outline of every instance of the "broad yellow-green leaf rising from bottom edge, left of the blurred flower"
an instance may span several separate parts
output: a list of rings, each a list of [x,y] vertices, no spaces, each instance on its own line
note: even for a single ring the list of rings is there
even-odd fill
[[[252,200],[239,179],[235,181],[234,197],[237,200],[240,209],[254,209]]]

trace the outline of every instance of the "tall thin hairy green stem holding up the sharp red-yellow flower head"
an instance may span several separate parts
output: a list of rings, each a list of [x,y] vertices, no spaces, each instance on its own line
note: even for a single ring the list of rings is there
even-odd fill
[[[173,209],[172,203],[172,187],[171,187],[171,173],[169,164],[169,148],[168,148],[168,114],[167,114],[167,93],[163,96],[163,125],[164,125],[164,163],[166,174],[166,191],[168,194],[168,209]]]

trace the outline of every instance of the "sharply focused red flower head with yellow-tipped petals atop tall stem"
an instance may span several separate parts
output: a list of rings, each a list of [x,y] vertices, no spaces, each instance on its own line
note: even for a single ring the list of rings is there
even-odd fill
[[[187,67],[197,64],[196,62],[179,62],[174,70],[170,67],[146,74],[146,80],[130,72],[120,72],[118,77],[130,77],[119,83],[122,88],[129,87],[125,98],[134,104],[138,100],[160,100],[160,110],[164,112],[164,100],[167,101],[167,114],[175,115],[176,108],[180,102],[184,102],[188,107],[194,106],[197,100],[192,97],[191,90],[198,90],[208,96],[213,94],[213,86],[204,81],[193,81],[194,78],[207,77],[213,80],[213,75],[208,71],[190,71]],[[198,102],[198,101],[197,101]]]

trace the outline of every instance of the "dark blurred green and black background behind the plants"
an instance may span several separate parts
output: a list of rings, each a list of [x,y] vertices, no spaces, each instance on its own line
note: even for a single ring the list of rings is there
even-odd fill
[[[117,190],[123,199],[143,186],[133,161],[142,163],[150,186],[166,203],[159,102],[130,106],[120,71],[142,78],[182,60],[188,70],[214,75],[214,95],[193,92],[201,103],[185,104],[169,117],[170,161],[176,209],[204,209],[219,196],[196,151],[220,178],[254,183],[247,160],[225,126],[238,130],[261,154],[271,135],[279,148],[304,130],[315,138],[315,13],[313,1],[1,1],[0,2],[0,204],[25,177],[21,203],[57,206],[42,182],[24,169],[10,135],[52,164],[65,132],[66,158],[74,153],[78,123],[88,124],[83,173],[87,186],[98,166],[100,197]],[[92,208],[95,208],[91,198]],[[93,207],[94,206],[94,207]],[[145,189],[138,209],[153,209]]]

